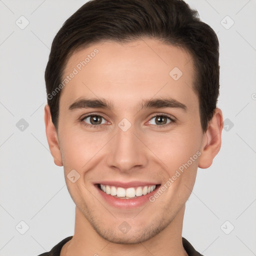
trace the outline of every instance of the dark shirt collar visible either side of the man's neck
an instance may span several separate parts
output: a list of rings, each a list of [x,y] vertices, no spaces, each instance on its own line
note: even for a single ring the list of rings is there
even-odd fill
[[[52,247],[52,249],[49,252],[44,252],[38,256],[59,256],[62,246],[72,237],[73,236],[68,236],[64,238],[62,241],[60,241],[58,244]],[[196,251],[194,247],[189,243],[189,241],[186,240],[184,237],[182,237],[182,244],[188,256],[203,256],[198,251]]]

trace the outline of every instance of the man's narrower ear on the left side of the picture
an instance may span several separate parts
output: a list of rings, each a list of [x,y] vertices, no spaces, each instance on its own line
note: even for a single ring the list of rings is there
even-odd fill
[[[46,104],[44,107],[44,123],[45,123],[45,131],[46,137],[49,144],[50,153],[54,159],[54,163],[57,166],[62,166],[61,153],[59,149],[58,136],[56,129],[51,120],[50,108],[49,105]]]

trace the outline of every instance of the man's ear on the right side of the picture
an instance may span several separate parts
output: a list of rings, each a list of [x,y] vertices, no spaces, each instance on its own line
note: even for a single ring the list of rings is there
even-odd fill
[[[223,116],[221,110],[216,107],[207,130],[203,134],[200,148],[198,167],[208,168],[221,146],[221,131],[223,128]]]

